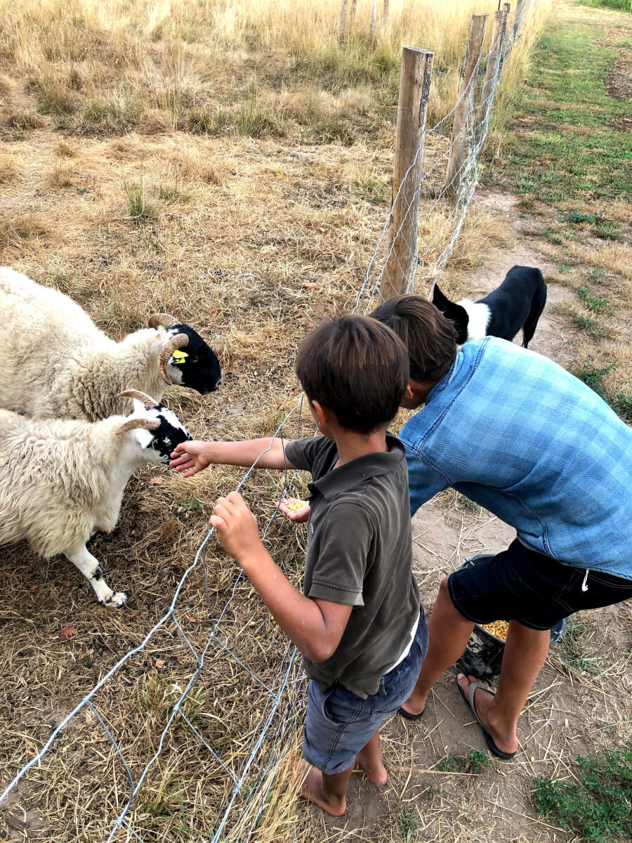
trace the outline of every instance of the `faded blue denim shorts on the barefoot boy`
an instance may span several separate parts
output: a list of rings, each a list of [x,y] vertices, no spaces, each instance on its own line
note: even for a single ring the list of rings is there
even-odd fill
[[[303,736],[303,758],[327,775],[347,770],[383,720],[408,700],[428,650],[428,628],[420,606],[419,626],[410,652],[380,679],[377,694],[363,700],[340,682],[325,691],[312,679]]]

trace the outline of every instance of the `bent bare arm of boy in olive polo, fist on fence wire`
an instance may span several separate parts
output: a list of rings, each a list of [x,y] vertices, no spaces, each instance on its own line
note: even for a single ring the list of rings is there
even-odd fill
[[[236,491],[220,497],[211,524],[222,545],[249,577],[270,614],[303,656],[324,662],[335,652],[352,606],[305,597],[265,550],[256,518]]]

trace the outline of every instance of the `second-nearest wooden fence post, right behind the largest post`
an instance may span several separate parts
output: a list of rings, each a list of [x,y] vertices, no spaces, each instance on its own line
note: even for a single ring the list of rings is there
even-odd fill
[[[465,158],[465,148],[468,138],[469,114],[474,105],[474,86],[476,83],[476,68],[479,64],[480,51],[485,38],[486,14],[473,14],[469,27],[468,51],[463,65],[461,85],[458,89],[457,105],[454,109],[452,137],[450,138],[450,155],[447,159],[446,191],[456,193],[461,178],[461,169]]]

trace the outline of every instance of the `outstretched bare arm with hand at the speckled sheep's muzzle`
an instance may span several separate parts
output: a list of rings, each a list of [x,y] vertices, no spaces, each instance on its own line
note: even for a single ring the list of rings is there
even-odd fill
[[[293,469],[286,459],[285,440],[280,437],[247,439],[244,442],[182,442],[171,454],[169,465],[183,477],[192,477],[212,464],[249,468],[260,457],[260,469]]]

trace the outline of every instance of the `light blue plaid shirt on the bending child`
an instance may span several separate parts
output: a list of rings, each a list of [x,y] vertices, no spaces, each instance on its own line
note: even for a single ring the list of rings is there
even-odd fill
[[[411,514],[453,486],[533,550],[632,579],[632,429],[557,363],[468,342],[399,438]]]

